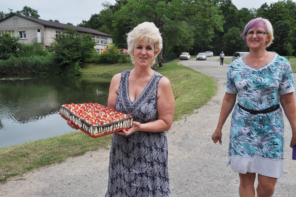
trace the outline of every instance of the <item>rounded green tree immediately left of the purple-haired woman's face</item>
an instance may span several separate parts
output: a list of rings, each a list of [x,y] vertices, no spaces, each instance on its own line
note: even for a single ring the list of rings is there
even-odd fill
[[[234,54],[237,51],[247,51],[244,40],[240,37],[241,30],[237,27],[230,28],[223,36],[223,45],[227,54]]]

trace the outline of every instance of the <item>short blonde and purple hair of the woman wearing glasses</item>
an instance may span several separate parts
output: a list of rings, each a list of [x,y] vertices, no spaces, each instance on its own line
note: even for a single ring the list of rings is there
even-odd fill
[[[241,37],[244,39],[244,43],[247,45],[247,32],[249,31],[250,28],[258,28],[260,24],[263,24],[268,36],[269,36],[269,40],[266,43],[266,47],[269,47],[269,45],[272,44],[272,40],[274,39],[274,30],[272,29],[272,25],[269,22],[269,20],[265,19],[265,18],[255,18],[253,20],[250,20],[249,23],[244,27],[244,32],[242,32]]]

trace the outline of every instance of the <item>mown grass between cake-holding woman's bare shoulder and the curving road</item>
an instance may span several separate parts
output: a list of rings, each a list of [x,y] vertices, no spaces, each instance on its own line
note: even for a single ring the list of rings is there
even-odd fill
[[[175,96],[174,120],[185,114],[192,114],[194,109],[205,105],[216,94],[217,86],[213,78],[176,62],[166,63],[157,70],[167,77]]]

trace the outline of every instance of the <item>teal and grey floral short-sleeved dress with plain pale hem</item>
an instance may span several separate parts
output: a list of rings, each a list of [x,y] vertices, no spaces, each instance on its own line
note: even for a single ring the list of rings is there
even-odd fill
[[[292,69],[279,55],[259,69],[244,63],[242,57],[229,65],[227,93],[237,94],[237,102],[250,110],[263,110],[280,104],[280,95],[294,92]],[[279,108],[252,115],[236,104],[231,117],[229,161],[234,172],[258,173],[279,178],[284,172],[284,119]]]

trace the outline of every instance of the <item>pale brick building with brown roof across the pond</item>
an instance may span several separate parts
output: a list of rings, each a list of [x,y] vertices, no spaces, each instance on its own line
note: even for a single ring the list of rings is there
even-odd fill
[[[109,34],[90,28],[56,23],[18,14],[13,14],[0,20],[0,35],[8,33],[15,37],[19,36],[19,42],[28,44],[38,42],[44,46],[49,46],[54,36],[63,34],[65,28],[76,29],[78,34],[91,34],[96,42],[94,48],[99,54],[101,50],[106,49],[108,43],[113,42]]]

